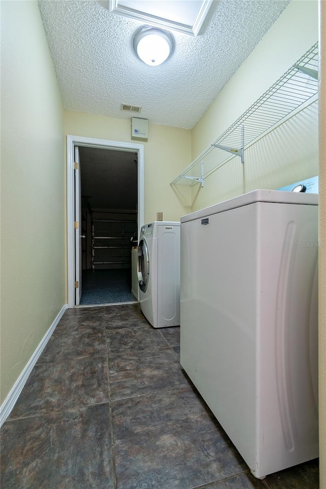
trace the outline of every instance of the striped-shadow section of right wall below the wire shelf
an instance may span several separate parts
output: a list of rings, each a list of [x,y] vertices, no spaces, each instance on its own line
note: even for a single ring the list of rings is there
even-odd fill
[[[192,211],[257,188],[276,189],[318,174],[318,103],[294,115],[190,187]],[[176,186],[178,188],[181,185]],[[183,186],[182,186],[182,191]],[[177,194],[178,195],[178,194]]]

